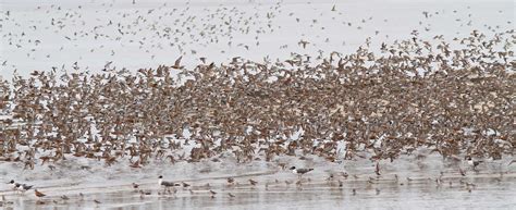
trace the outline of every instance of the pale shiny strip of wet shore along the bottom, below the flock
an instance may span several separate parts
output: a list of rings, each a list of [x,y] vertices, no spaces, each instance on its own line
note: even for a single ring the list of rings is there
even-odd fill
[[[383,176],[307,177],[277,180],[274,176],[202,180],[175,190],[142,184],[132,186],[47,189],[44,199],[7,194],[5,209],[341,209],[341,208],[511,208],[516,193],[516,174],[478,173],[468,176],[444,174],[431,177]],[[174,193],[175,192],[175,193]],[[212,193],[210,193],[212,192]],[[79,195],[81,193],[81,195]],[[147,193],[149,195],[145,195]]]

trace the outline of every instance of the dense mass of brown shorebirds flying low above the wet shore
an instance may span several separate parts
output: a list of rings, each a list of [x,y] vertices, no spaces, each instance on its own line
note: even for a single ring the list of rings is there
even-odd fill
[[[180,58],[137,73],[14,76],[0,88],[0,161],[34,168],[74,156],[110,165],[130,157],[139,168],[228,152],[238,162],[392,161],[420,147],[444,158],[513,153],[514,30],[474,30],[451,44],[413,36],[381,53],[364,46],[311,61],[293,53],[186,70]]]

